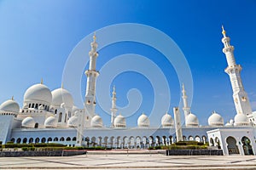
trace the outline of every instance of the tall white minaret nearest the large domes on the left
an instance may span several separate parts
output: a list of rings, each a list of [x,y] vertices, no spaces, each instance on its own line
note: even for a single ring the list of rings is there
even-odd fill
[[[85,115],[87,116],[86,120],[89,124],[90,119],[95,116],[96,78],[99,76],[99,72],[96,71],[96,58],[98,57],[98,53],[96,52],[96,48],[98,47],[98,44],[96,43],[96,34],[93,36],[93,42],[90,43],[90,47],[89,70],[85,71],[85,75],[87,76],[87,85],[84,100]]]

